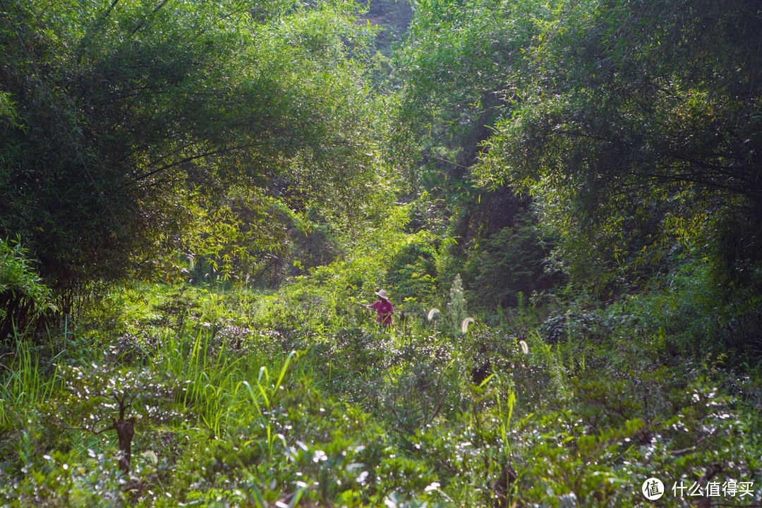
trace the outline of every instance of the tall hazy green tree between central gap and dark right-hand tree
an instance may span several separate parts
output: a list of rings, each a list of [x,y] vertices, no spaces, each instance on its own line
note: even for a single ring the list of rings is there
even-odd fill
[[[514,277],[543,269],[543,249],[530,247],[539,242],[536,231],[519,220],[530,215],[517,213],[529,200],[507,186],[479,188],[472,168],[492,126],[511,115],[513,75],[553,15],[545,4],[523,0],[418,2],[408,41],[392,60],[399,99],[389,145],[408,165],[411,190],[426,191],[419,199],[431,200],[429,215],[447,222],[444,234],[456,240],[445,242],[441,253],[447,262],[440,276],[449,279],[443,282],[449,286],[462,273],[484,303],[515,305],[518,291],[543,289],[541,277],[527,276],[534,281],[528,284]],[[504,249],[514,252],[502,255]]]

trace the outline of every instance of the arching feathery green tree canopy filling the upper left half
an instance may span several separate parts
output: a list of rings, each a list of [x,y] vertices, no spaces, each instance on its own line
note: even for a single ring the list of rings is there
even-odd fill
[[[267,196],[369,199],[372,34],[354,4],[0,7],[0,235],[52,286],[151,271],[233,187],[260,218]]]

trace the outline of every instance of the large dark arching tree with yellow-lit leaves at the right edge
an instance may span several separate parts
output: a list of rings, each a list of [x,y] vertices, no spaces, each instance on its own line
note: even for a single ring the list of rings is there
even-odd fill
[[[526,54],[481,174],[542,196],[565,270],[637,285],[675,238],[759,270],[759,2],[558,2]]]

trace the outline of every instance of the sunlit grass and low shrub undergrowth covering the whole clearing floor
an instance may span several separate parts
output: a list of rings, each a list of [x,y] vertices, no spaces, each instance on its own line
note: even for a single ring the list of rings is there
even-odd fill
[[[662,506],[692,501],[680,482],[760,500],[758,372],[684,355],[627,305],[522,300],[465,334],[413,309],[380,331],[354,305],[370,282],[135,286],[44,347],[18,337],[3,505],[639,506],[652,477]]]

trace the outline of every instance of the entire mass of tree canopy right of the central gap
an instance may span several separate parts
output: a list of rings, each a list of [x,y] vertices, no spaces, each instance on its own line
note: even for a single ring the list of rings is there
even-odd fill
[[[420,2],[395,65],[411,180],[531,190],[575,280],[759,275],[760,2]]]

